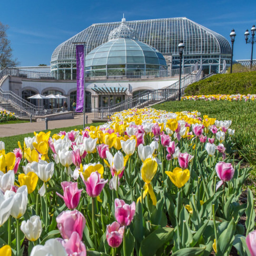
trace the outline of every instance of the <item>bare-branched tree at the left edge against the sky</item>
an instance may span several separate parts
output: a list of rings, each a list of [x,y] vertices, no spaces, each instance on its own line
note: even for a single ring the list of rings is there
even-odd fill
[[[17,59],[13,58],[11,41],[8,40],[6,34],[6,30],[8,28],[8,25],[0,22],[0,69],[5,67],[14,67],[19,64]]]

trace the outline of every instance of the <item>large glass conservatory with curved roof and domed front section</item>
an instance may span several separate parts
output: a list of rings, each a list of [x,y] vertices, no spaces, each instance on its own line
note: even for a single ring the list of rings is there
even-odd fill
[[[120,39],[114,41],[116,38],[113,35],[118,34],[117,32],[122,26],[122,22],[113,22],[93,24],[58,45],[52,54],[51,72],[60,74],[65,79],[76,79],[76,51],[73,42],[86,42],[85,51],[88,54],[86,57],[86,62],[88,62],[86,70],[91,74],[100,73],[101,71],[103,74],[105,72],[113,74],[116,72],[161,70],[161,67],[166,68],[162,55],[169,68],[178,68],[180,65],[178,50],[180,40],[183,40],[185,44],[182,58],[183,67],[200,62],[205,73],[218,73],[222,70],[224,60],[227,66],[231,62],[229,41],[224,36],[188,18],[130,21],[124,25],[132,31],[129,43],[126,43],[125,36],[119,36]],[[125,30],[122,29],[122,31],[125,34]],[[143,43],[143,47],[147,47],[146,51],[142,48],[139,50]],[[122,50],[117,48],[119,44],[122,45]],[[134,52],[132,52],[133,47],[136,49]],[[116,48],[117,51],[112,51],[116,56],[107,55],[107,52],[109,52],[107,49],[110,50],[111,48],[112,50]],[[145,52],[147,53],[145,54]],[[133,53],[133,56],[129,55],[131,53]],[[97,54],[104,56],[104,63],[96,63],[95,56]],[[112,63],[114,57],[120,57],[120,62]],[[133,57],[133,60],[130,57]],[[138,58],[136,59],[136,57]],[[146,58],[148,60],[152,58],[152,62],[147,62]],[[92,59],[94,61],[90,63]],[[94,65],[95,63],[96,65]]]

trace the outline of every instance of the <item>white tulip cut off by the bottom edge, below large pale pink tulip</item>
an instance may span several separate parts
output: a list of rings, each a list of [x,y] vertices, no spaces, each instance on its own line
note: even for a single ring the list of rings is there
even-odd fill
[[[60,241],[49,239],[44,245],[33,247],[30,256],[67,256],[67,253]]]

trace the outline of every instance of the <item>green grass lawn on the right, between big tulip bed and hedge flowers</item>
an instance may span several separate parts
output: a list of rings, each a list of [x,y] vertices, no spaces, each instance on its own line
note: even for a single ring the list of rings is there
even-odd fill
[[[166,111],[199,111],[201,116],[217,120],[232,120],[230,128],[235,130],[236,149],[246,163],[253,166],[248,185],[255,191],[256,186],[256,103],[225,101],[170,101],[154,106]]]

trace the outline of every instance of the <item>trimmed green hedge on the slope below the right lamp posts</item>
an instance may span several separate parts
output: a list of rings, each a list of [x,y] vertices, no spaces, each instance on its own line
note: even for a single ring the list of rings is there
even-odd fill
[[[216,74],[189,85],[185,95],[256,94],[256,71]]]

